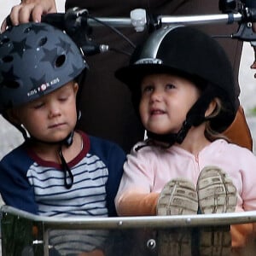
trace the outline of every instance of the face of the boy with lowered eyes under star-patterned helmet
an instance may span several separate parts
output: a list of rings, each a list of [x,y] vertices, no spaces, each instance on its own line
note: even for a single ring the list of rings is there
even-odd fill
[[[76,125],[78,89],[77,83],[69,82],[46,96],[15,108],[15,119],[25,126],[32,137],[45,142],[59,142]]]

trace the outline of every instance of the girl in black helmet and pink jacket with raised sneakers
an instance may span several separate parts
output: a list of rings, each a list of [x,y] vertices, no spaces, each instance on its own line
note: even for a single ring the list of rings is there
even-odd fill
[[[125,162],[119,215],[255,210],[256,158],[221,136],[238,105],[224,50],[203,32],[179,26],[154,32],[133,57],[116,76],[131,89],[148,139]],[[232,245],[251,229],[231,230]],[[214,236],[209,246],[216,246]]]

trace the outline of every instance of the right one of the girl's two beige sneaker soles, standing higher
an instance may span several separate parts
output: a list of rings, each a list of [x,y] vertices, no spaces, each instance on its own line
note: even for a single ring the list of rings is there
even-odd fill
[[[198,201],[201,213],[235,212],[236,187],[230,177],[216,166],[207,166],[197,182]],[[230,255],[230,225],[201,229],[200,255]]]

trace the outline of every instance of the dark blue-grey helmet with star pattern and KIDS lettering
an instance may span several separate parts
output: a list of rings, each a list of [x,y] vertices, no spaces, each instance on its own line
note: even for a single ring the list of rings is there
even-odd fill
[[[0,35],[0,109],[47,95],[87,67],[65,32],[44,23],[13,26]]]

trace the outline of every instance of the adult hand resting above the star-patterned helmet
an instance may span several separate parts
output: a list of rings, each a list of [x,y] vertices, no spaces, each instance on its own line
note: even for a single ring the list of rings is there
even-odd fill
[[[16,26],[28,21],[40,22],[42,15],[55,13],[56,11],[55,0],[23,0],[11,9],[9,17],[12,24]],[[1,32],[5,31],[6,27],[5,19],[1,26]]]

